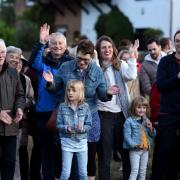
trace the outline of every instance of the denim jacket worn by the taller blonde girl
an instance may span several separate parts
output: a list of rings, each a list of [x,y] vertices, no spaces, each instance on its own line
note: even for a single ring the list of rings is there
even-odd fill
[[[81,133],[77,132],[77,126],[82,127]],[[72,133],[67,132],[67,127],[71,126]],[[60,137],[71,138],[78,141],[87,139],[87,133],[92,126],[92,117],[87,103],[81,104],[74,111],[69,103],[59,105],[56,127],[59,130]]]

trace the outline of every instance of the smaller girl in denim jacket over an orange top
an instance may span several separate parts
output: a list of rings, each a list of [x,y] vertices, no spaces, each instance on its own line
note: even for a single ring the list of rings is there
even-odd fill
[[[156,135],[155,129],[147,116],[149,104],[142,96],[136,97],[130,107],[131,116],[124,123],[123,146],[129,149],[131,174],[129,180],[136,180],[139,174],[140,180],[145,180],[148,163],[149,138]]]

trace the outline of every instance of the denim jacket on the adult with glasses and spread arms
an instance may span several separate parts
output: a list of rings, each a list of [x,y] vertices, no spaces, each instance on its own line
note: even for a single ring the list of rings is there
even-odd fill
[[[86,102],[89,104],[91,113],[97,112],[97,98],[106,102],[111,100],[112,96],[107,95],[107,86],[104,75],[100,67],[95,63],[90,63],[86,74],[83,76],[76,61],[69,61],[62,64],[54,78],[54,84],[47,84],[50,91],[58,92],[65,89],[69,80],[82,80],[85,88]]]

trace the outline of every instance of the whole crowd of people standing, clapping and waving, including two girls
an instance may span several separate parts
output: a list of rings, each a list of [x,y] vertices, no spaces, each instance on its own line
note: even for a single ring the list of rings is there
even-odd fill
[[[174,47],[151,38],[141,63],[138,40],[70,49],[43,24],[26,59],[0,39],[1,180],[111,180],[112,158],[124,180],[145,180],[150,148],[151,180],[178,180],[180,31]]]

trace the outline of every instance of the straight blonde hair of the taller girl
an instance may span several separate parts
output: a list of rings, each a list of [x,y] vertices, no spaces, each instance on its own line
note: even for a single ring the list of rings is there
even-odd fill
[[[84,85],[82,83],[82,81],[79,80],[70,80],[67,83],[66,86],[66,92],[65,92],[65,102],[68,103],[69,99],[68,99],[68,90],[74,88],[78,91],[79,95],[78,95],[78,104],[82,104],[85,101],[85,97],[84,97]]]

